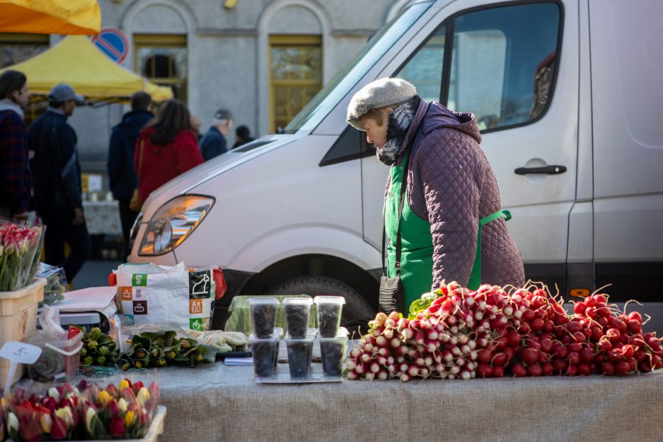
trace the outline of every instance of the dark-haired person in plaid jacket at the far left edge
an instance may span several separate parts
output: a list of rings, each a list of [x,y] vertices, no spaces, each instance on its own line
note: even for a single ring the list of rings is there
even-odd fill
[[[18,70],[0,75],[0,216],[27,220],[30,205],[28,140],[23,109],[28,79]]]

